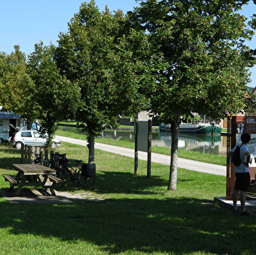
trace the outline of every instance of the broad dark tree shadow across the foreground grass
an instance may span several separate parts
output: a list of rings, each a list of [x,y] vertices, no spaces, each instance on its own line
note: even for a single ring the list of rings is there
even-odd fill
[[[57,206],[2,202],[0,228],[10,235],[40,236],[45,241],[57,237],[56,246],[67,241],[74,251],[86,241],[93,243],[95,252],[105,254],[255,254],[251,245],[255,217],[231,217],[227,210],[197,198]]]

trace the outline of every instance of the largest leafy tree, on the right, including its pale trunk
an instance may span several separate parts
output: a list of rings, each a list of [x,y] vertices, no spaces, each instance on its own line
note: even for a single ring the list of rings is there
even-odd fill
[[[254,59],[244,41],[253,33],[237,13],[247,2],[147,0],[130,13],[166,64],[154,73],[161,76],[150,98],[152,113],[172,127],[169,190],[176,189],[182,118],[197,112],[220,119],[252,105],[245,91]]]

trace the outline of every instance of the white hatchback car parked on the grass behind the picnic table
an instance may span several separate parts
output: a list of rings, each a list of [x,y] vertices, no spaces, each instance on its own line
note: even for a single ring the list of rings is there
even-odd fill
[[[37,130],[24,130],[16,132],[12,138],[10,138],[10,142],[17,149],[22,149],[22,144],[31,145],[31,146],[44,146],[46,144],[46,136],[42,135]],[[52,140],[52,147],[59,147],[61,142],[54,138]]]

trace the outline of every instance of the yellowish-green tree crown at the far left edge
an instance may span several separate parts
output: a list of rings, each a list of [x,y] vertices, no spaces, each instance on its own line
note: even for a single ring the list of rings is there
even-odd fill
[[[25,53],[19,46],[14,52],[0,53],[0,105],[3,110],[16,112],[31,123],[37,116],[33,101],[34,83],[27,74]]]

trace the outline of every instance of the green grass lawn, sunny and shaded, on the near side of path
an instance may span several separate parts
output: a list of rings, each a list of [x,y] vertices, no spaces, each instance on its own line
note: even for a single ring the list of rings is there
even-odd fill
[[[88,148],[63,142],[56,149],[87,160]],[[0,172],[14,174],[20,151],[0,147]],[[178,169],[177,190],[167,190],[168,166],[95,150],[97,183],[63,190],[89,198],[72,203],[9,203],[0,198],[1,254],[170,255],[255,254],[255,216],[233,215],[214,203],[225,177]],[[3,177],[0,187],[8,188]]]

